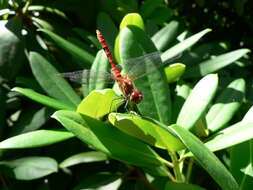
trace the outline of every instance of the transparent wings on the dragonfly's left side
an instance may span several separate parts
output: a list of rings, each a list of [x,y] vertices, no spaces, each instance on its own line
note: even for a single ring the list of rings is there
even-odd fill
[[[114,83],[113,74],[105,71],[81,70],[59,73],[57,76],[67,78],[71,82],[80,84]]]

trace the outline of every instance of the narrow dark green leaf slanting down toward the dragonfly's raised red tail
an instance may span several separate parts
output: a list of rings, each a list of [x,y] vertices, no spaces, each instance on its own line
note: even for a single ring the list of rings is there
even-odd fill
[[[47,34],[60,48],[64,49],[69,54],[75,56],[81,62],[91,65],[92,62],[94,61],[94,56],[91,55],[89,52],[68,42],[67,40],[58,36],[57,34],[51,32],[49,30],[46,30],[46,29],[39,29],[38,31],[41,31],[41,32]]]

